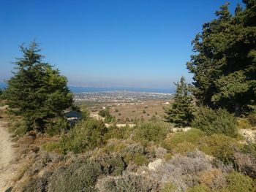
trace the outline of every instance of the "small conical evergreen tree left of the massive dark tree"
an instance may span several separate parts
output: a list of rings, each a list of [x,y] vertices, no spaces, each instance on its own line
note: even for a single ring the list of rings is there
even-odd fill
[[[186,84],[184,77],[181,77],[180,82],[175,85],[174,102],[171,107],[165,108],[165,120],[175,123],[178,127],[190,126],[193,120],[194,106],[192,96],[189,95],[189,85]]]

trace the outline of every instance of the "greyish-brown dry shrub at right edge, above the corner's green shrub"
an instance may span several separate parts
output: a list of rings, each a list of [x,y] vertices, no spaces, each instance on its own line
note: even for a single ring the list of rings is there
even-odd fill
[[[239,172],[256,178],[256,158],[250,154],[235,153],[234,162]]]

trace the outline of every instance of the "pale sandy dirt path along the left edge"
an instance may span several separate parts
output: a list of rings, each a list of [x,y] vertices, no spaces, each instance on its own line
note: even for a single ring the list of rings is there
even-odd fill
[[[15,152],[7,131],[7,123],[0,121],[0,191],[6,191],[12,185],[15,171],[12,166],[14,159]]]

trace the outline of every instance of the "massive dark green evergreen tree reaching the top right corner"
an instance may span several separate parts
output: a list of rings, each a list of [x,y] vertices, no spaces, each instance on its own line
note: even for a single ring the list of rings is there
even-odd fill
[[[203,25],[192,42],[197,54],[187,63],[198,101],[236,116],[256,104],[256,1],[244,3],[246,9],[238,5],[235,15],[225,4],[217,19]]]

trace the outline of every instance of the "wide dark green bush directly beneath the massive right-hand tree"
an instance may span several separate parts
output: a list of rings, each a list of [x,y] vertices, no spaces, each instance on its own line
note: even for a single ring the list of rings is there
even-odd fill
[[[229,137],[237,137],[236,118],[227,110],[211,110],[200,107],[192,121],[192,126],[206,132],[206,134],[225,134]]]

